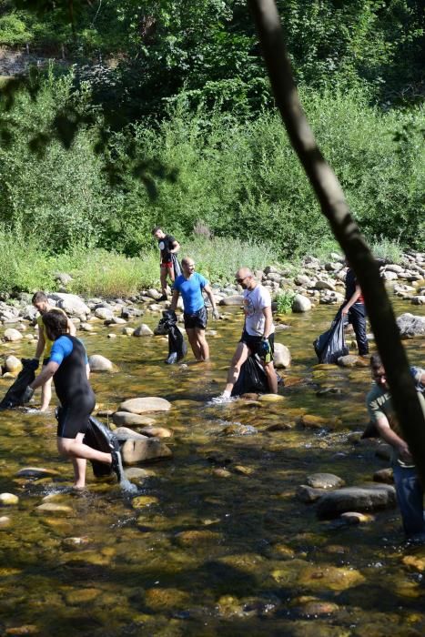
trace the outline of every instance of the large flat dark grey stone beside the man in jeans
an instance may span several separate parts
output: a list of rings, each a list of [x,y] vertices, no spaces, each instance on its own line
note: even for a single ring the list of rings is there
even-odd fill
[[[345,487],[320,498],[319,519],[335,518],[346,511],[378,511],[396,506],[396,491],[389,484]]]

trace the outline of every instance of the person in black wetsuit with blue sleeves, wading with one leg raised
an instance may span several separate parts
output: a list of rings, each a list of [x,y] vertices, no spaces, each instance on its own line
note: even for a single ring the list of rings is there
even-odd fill
[[[116,446],[111,453],[104,453],[84,444],[88,419],[96,402],[88,382],[86,349],[79,339],[67,333],[66,316],[62,312],[55,309],[46,312],[43,323],[48,338],[54,343],[47,365],[26,388],[24,401],[31,399],[34,390],[53,377],[57,398],[61,403],[57,419],[57,449],[60,454],[71,458],[75,473],[74,486],[83,489],[86,484],[86,460],[112,463],[112,468],[116,470],[119,449]]]

